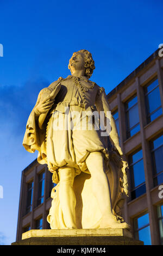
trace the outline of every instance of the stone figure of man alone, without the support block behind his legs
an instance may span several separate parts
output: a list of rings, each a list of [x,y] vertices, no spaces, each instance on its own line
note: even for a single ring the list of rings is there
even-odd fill
[[[103,112],[106,121],[110,111],[104,88],[89,80],[95,69],[91,53],[86,50],[74,52],[68,68],[71,70],[70,76],[60,77],[39,93],[27,121],[23,146],[31,153],[38,150],[37,161],[46,163],[53,173],[53,181],[59,182],[57,193],[65,228],[77,228],[73,181],[81,172],[91,174],[92,192],[102,215],[99,228],[129,228],[127,223],[120,221],[120,218],[118,220],[113,211],[110,185],[105,173],[110,157],[114,155],[117,162],[123,163],[121,186],[123,192],[128,193],[127,163],[122,159],[114,118],[111,115],[111,131],[108,132],[106,128],[110,148],[101,136],[100,129],[95,129],[96,120],[92,129],[88,129],[87,125],[79,129],[86,116],[84,112]],[[73,113],[78,113],[78,121],[73,119]],[[58,126],[59,120],[64,124],[62,129],[58,129],[61,128]],[[58,224],[58,227],[62,226]]]

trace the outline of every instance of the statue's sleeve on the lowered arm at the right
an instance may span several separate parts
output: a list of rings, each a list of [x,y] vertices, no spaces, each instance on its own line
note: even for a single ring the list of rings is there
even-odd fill
[[[106,132],[110,137],[112,145],[114,145],[120,153],[120,155],[122,155],[117,127],[115,124],[114,117],[112,117],[108,99],[106,97],[105,90],[103,87],[99,88],[98,90],[98,93],[96,95],[95,106],[97,108],[97,111],[99,112],[100,120],[103,122],[103,127],[106,128]]]

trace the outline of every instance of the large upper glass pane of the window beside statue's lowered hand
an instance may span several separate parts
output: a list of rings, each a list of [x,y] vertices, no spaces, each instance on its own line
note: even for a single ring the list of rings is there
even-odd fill
[[[133,184],[132,184],[132,189],[134,187],[139,186],[143,182],[145,182],[145,171],[144,171],[144,165],[143,165],[143,160],[135,163],[133,166],[130,167],[131,170],[131,175],[133,175]]]

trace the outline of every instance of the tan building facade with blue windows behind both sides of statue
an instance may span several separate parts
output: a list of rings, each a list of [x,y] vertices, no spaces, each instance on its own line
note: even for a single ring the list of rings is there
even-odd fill
[[[124,220],[145,245],[163,245],[163,58],[154,52],[108,94],[120,144],[129,163]],[[32,162],[22,171],[17,236],[49,229],[52,174]]]

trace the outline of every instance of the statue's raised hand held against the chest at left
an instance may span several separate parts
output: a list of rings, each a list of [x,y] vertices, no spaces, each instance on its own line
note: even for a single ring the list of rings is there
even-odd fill
[[[43,101],[40,101],[39,104],[35,107],[36,115],[46,113],[53,106],[54,100],[51,100],[49,96],[47,96]]]

